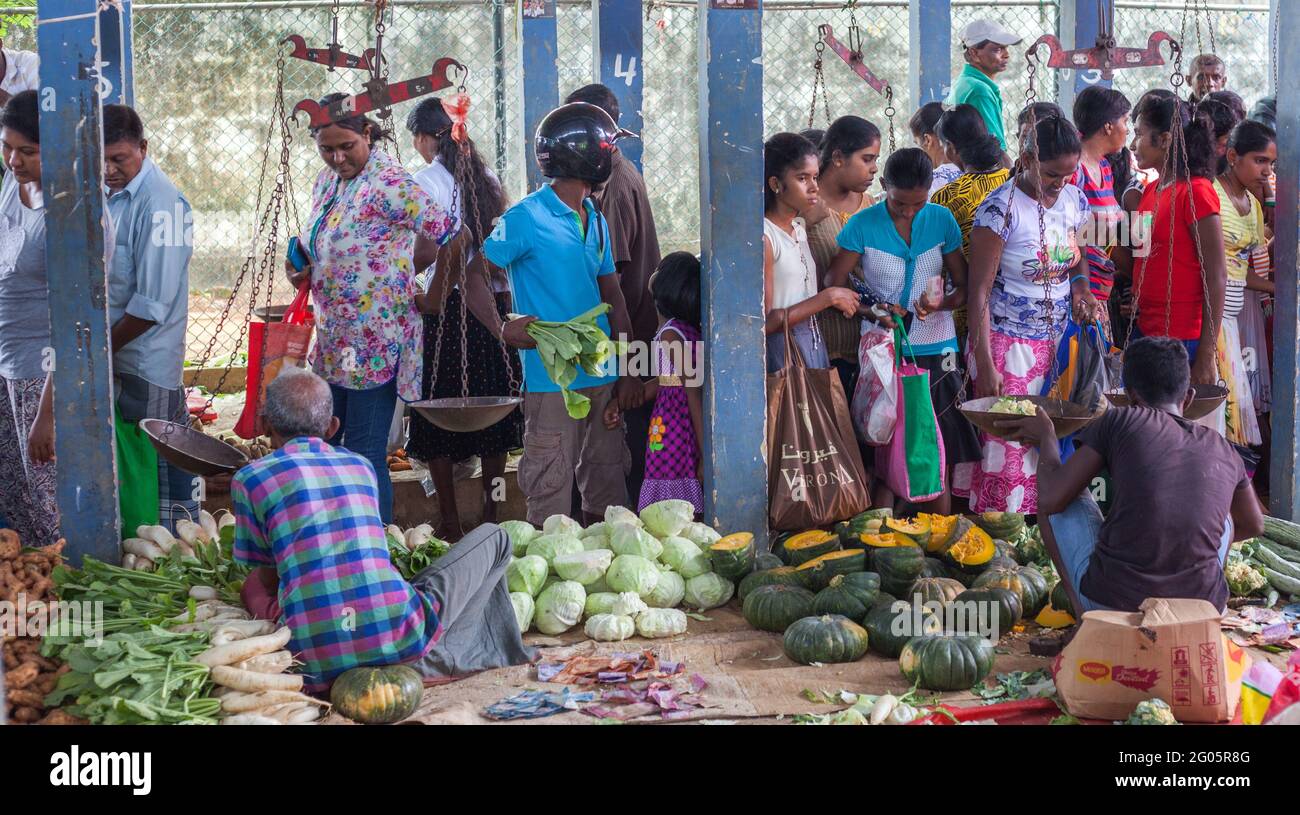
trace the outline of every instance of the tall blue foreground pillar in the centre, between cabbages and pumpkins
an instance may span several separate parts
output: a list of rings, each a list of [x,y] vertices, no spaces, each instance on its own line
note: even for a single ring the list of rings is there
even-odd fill
[[[767,538],[760,0],[699,0],[705,521]]]

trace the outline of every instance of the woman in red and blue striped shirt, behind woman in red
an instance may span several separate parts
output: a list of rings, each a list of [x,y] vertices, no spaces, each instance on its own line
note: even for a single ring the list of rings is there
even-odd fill
[[[1123,94],[1098,86],[1084,88],[1074,101],[1074,126],[1079,129],[1083,153],[1070,183],[1083,190],[1088,199],[1089,229],[1080,238],[1087,247],[1088,287],[1102,305],[1102,324],[1110,321],[1106,302],[1115,285],[1115,261],[1110,257],[1110,250],[1115,244],[1117,229],[1123,217],[1123,209],[1115,198],[1114,173],[1106,156],[1128,143],[1130,109],[1132,105]],[[1109,335],[1110,326],[1104,328]]]

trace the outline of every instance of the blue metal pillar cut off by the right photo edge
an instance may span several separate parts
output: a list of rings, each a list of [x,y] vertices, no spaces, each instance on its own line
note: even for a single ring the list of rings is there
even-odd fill
[[[1282,14],[1278,42],[1300,42],[1300,16]],[[1300,49],[1279,48],[1278,75],[1300,73]],[[1300,243],[1300,87],[1278,83],[1278,209],[1273,246],[1277,300],[1273,309],[1273,460],[1269,471],[1270,515],[1300,520],[1300,300],[1297,243]]]

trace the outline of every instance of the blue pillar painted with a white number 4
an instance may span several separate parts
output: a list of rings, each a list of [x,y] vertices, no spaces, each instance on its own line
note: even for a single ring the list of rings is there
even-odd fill
[[[619,125],[641,133],[641,94],[645,87],[641,0],[595,0],[592,4],[592,49],[597,82],[619,97]],[[641,169],[641,139],[625,139],[619,149]]]

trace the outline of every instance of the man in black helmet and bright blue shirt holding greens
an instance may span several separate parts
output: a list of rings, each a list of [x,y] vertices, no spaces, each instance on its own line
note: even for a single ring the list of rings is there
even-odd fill
[[[585,419],[572,419],[526,331],[534,320],[572,320],[603,302],[610,312],[599,317],[601,329],[614,337],[632,334],[610,229],[592,200],[610,178],[615,140],[627,135],[632,134],[595,105],[573,103],[551,110],[536,136],[537,164],[551,182],[511,207],[484,243],[484,256],[510,276],[515,309],[526,315],[507,322],[502,337],[525,350],[519,487],[528,520],[538,526],[551,515],[569,512],[575,477],[586,523],[601,520],[606,507],[627,503],[623,430],[606,428],[602,417],[611,399],[624,407],[640,404],[640,383],[578,370],[569,390],[590,399],[590,406]]]

